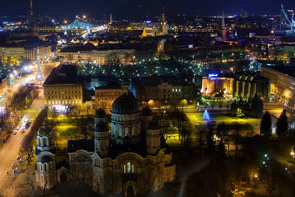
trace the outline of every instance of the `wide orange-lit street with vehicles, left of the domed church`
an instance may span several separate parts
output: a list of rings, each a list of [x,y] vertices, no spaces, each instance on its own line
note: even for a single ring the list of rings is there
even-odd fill
[[[51,70],[55,67],[55,65],[45,66],[42,72],[44,74],[44,78],[47,77]],[[33,76],[30,76],[33,77]],[[26,78],[21,79],[17,82],[17,84],[26,83]],[[17,88],[16,88],[17,89]],[[29,122],[33,122],[36,116],[39,114],[41,107],[44,106],[44,99],[43,99],[43,90],[40,89],[38,98],[36,98],[33,103],[30,105],[28,110],[21,111],[21,117],[23,118],[26,115],[26,118],[29,119]],[[19,123],[20,125],[21,123]],[[2,149],[0,150],[0,189],[8,189],[5,185],[5,180],[7,178],[7,172],[12,174],[12,166],[17,165],[16,158],[19,154],[19,148],[21,146],[22,140],[26,133],[30,130],[26,129],[24,133],[18,132],[16,135],[10,135],[9,139],[3,145]],[[3,187],[2,187],[3,185]],[[14,188],[15,189],[15,188]]]

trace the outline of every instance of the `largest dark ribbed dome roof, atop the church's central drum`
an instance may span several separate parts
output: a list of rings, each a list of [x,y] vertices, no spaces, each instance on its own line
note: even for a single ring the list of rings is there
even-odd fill
[[[114,114],[128,115],[140,111],[134,96],[124,93],[124,95],[121,95],[113,102],[111,112]]]

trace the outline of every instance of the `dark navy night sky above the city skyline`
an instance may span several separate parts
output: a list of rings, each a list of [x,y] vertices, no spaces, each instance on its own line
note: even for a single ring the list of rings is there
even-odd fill
[[[162,12],[166,15],[199,14],[218,15],[224,9],[225,14],[238,15],[240,10],[252,14],[280,14],[280,4],[286,9],[295,9],[292,0],[34,0],[35,15],[57,14],[73,15],[100,14],[120,16],[150,16]],[[1,0],[0,15],[29,15],[29,0]]]

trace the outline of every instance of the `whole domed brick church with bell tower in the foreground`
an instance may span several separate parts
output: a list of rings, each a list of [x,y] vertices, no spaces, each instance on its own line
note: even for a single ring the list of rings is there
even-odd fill
[[[84,178],[83,184],[100,194],[134,196],[156,192],[176,177],[176,164],[160,129],[148,107],[140,110],[134,96],[124,94],[112,105],[111,122],[107,122],[106,112],[98,109],[94,115],[94,139],[69,140],[69,160],[57,164],[53,133],[42,127],[37,135],[38,185],[50,189]],[[81,177],[85,174],[81,170],[88,175]]]

